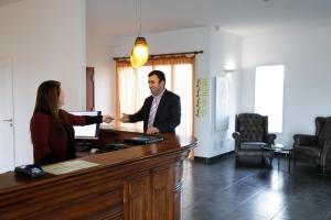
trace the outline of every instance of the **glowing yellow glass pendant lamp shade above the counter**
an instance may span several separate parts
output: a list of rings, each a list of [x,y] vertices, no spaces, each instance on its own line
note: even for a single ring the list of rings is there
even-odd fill
[[[131,51],[130,63],[132,67],[139,67],[148,61],[148,45],[146,38],[138,36]]]

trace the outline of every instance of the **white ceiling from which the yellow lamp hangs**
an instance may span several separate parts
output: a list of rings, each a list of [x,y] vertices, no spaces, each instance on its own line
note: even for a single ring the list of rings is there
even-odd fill
[[[87,30],[137,34],[136,0],[86,0]],[[141,0],[141,32],[217,26],[242,36],[331,25],[331,0]]]

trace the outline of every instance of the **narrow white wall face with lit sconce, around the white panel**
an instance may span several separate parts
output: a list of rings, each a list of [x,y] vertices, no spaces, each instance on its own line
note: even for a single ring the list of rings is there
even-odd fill
[[[237,113],[239,103],[239,78],[242,65],[242,37],[223,31],[212,30],[212,38],[210,42],[211,55],[211,123],[210,134],[211,145],[209,146],[207,156],[212,157],[234,150],[234,140],[232,133],[235,130],[235,114]],[[225,73],[224,69],[232,66],[235,70]],[[228,81],[228,129],[224,131],[215,131],[215,77],[225,76]]]

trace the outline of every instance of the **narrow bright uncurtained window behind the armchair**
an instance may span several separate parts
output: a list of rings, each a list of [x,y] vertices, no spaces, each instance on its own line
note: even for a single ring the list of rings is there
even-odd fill
[[[255,73],[255,112],[268,116],[269,132],[282,132],[284,65],[258,66]]]

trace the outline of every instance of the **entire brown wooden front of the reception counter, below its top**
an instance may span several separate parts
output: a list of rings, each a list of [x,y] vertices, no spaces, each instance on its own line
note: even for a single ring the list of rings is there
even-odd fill
[[[121,166],[122,173],[96,168],[2,194],[0,219],[180,220],[185,155]]]

